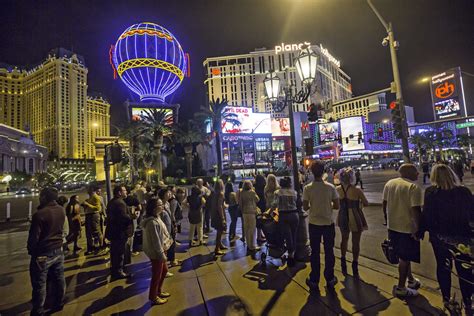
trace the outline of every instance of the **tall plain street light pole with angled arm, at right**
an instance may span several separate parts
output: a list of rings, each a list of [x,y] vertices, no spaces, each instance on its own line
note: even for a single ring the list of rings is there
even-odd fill
[[[392,72],[393,72],[393,81],[395,82],[395,91],[397,100],[399,101],[400,107],[400,119],[401,119],[401,127],[402,127],[402,153],[403,153],[403,160],[405,162],[410,162],[410,150],[408,147],[408,123],[407,123],[407,116],[405,111],[405,105],[403,102],[403,95],[402,95],[402,84],[400,81],[400,72],[398,70],[398,60],[397,60],[397,49],[398,49],[398,42],[395,40],[395,35],[393,34],[392,23],[387,23],[382,15],[380,15],[377,8],[372,4],[372,0],[367,0],[372,11],[374,11],[377,18],[382,23],[383,27],[387,31],[387,37],[383,39],[382,45],[386,46],[387,44],[390,46],[390,58],[392,60]],[[388,42],[387,42],[388,41]]]

